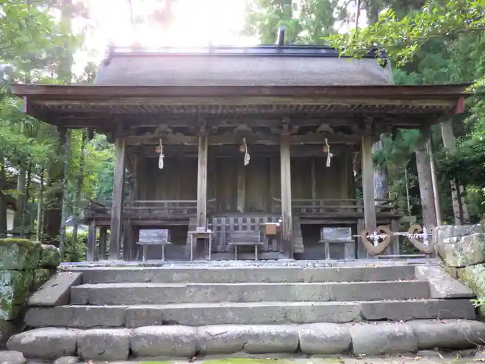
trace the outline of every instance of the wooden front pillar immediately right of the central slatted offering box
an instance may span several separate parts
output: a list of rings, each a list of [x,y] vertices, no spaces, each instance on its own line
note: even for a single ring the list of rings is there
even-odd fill
[[[283,252],[293,258],[293,220],[291,206],[290,136],[281,135],[281,240]]]

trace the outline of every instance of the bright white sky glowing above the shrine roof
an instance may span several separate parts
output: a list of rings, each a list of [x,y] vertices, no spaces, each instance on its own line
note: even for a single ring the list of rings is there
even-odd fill
[[[147,15],[157,8],[157,0],[132,0],[135,15]],[[138,42],[144,46],[207,46],[213,44],[254,44],[241,37],[246,0],[177,0],[173,3],[173,24],[169,29],[137,27]],[[97,23],[96,48],[108,42],[130,45],[134,30],[127,0],[94,0],[91,16]]]

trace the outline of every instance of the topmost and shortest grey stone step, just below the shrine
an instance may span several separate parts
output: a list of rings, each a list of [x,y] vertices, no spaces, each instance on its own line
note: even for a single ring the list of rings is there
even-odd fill
[[[298,266],[164,266],[80,267],[82,283],[297,283],[325,281],[399,281],[414,279],[414,266],[317,267]]]

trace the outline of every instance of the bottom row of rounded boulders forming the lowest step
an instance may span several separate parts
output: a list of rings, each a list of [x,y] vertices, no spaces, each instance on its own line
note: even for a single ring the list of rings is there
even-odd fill
[[[78,356],[83,361],[192,358],[211,354],[295,353],[355,356],[466,349],[485,339],[485,323],[470,320],[355,322],[349,324],[179,325],[136,329],[46,327],[18,333],[8,349],[26,358]]]

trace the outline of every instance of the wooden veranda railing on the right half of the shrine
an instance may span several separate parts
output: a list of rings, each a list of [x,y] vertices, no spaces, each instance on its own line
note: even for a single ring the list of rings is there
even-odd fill
[[[273,198],[276,208],[281,209],[281,199]],[[377,212],[398,212],[395,200],[376,199]],[[293,198],[292,211],[296,214],[328,214],[363,212],[364,205],[357,198]]]

